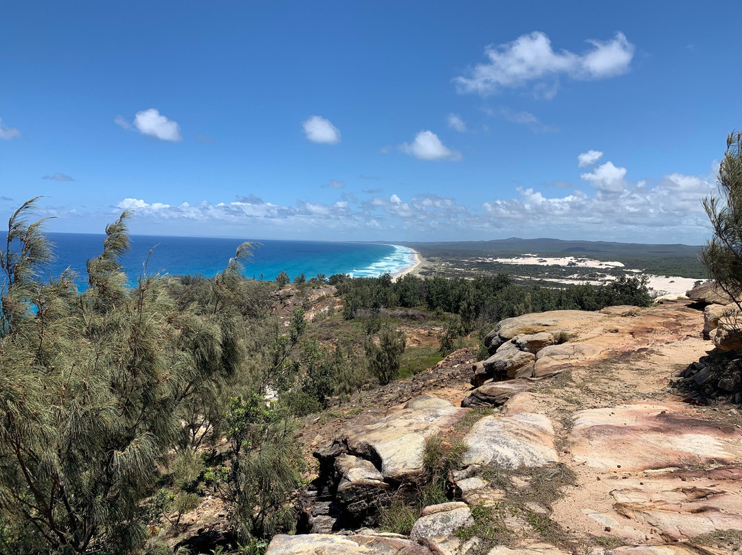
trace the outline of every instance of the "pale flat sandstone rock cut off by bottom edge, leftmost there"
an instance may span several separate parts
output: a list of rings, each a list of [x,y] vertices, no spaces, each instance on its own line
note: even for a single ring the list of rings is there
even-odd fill
[[[430,549],[398,534],[333,536],[312,533],[273,536],[265,555],[433,555]]]

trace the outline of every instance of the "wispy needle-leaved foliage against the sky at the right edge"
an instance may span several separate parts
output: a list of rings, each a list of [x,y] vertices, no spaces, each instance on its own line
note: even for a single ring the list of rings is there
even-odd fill
[[[700,260],[721,289],[742,309],[742,134],[726,138],[726,153],[719,167],[718,194],[703,199],[714,236]]]

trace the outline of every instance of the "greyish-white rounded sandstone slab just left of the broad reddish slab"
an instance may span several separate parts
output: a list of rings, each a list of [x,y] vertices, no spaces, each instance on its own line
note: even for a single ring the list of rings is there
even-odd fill
[[[464,441],[469,447],[464,454],[467,465],[491,464],[514,470],[559,460],[554,428],[542,414],[485,416],[473,425]]]

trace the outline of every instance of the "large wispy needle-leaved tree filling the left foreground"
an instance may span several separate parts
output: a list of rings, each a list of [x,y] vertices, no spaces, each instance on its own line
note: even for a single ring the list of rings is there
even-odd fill
[[[241,253],[214,282],[211,314],[177,309],[146,266],[125,287],[125,212],[79,294],[68,273],[39,278],[50,249],[42,222],[27,223],[34,202],[10,218],[0,255],[0,551],[131,553],[184,414],[203,416],[193,405],[243,364],[244,326],[220,300]]]

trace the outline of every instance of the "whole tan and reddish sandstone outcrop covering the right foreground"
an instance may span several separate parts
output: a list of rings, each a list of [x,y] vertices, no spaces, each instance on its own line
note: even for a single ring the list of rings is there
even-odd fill
[[[701,546],[697,538],[742,529],[742,420],[735,408],[683,402],[700,401],[677,389],[730,387],[734,401],[742,372],[729,369],[742,367],[742,358],[730,352],[724,364],[698,361],[709,348],[702,326],[715,318],[709,331],[718,334],[727,308],[707,308],[704,318],[687,301],[673,301],[502,321],[487,336],[485,361],[472,367],[462,358],[473,390],[462,393],[464,381],[437,384],[436,395],[455,403],[431,391],[366,410],[316,450],[318,501],[307,509],[307,529],[349,535],[276,536],[266,554],[731,551],[734,545]],[[677,375],[680,361],[696,362]],[[666,387],[671,378],[674,388]],[[410,536],[361,528],[378,525],[388,499],[420,490],[424,446],[436,434],[467,446],[461,467],[444,476],[451,502],[422,508]],[[510,531],[508,545],[460,537],[473,524]],[[626,545],[591,543],[598,539]]]

